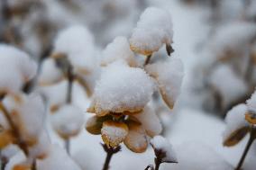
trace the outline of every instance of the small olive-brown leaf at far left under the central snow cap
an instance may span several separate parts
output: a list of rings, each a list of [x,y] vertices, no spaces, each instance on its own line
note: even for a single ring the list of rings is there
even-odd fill
[[[86,130],[93,135],[99,135],[101,133],[103,122],[110,119],[111,116],[93,116],[87,120]]]

